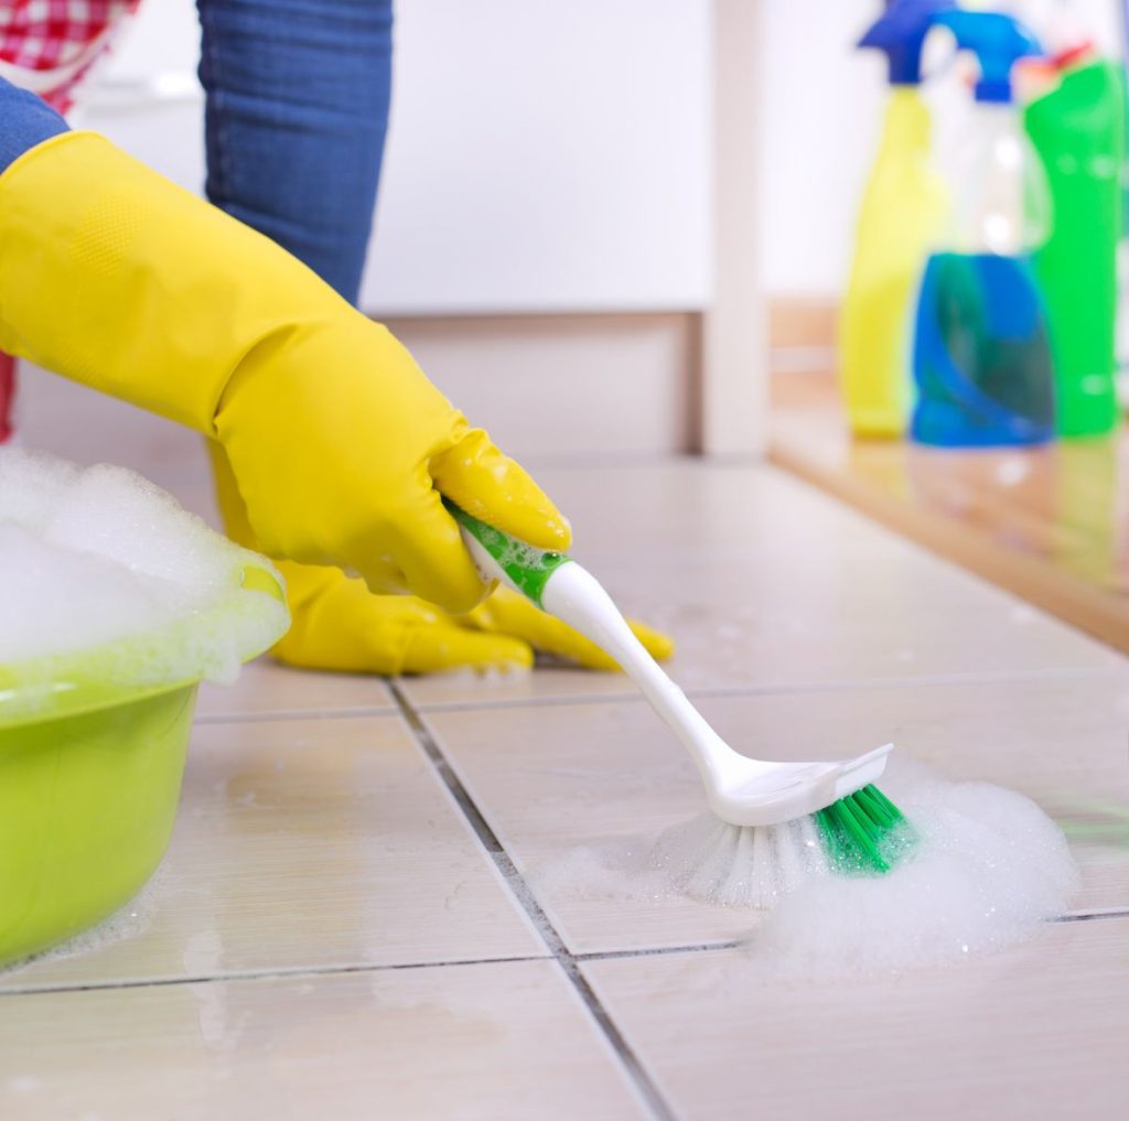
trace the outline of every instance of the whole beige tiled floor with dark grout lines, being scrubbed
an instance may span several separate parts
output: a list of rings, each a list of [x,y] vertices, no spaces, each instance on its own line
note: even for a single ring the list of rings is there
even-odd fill
[[[724,736],[893,738],[1027,794],[1083,868],[1069,913],[957,969],[754,984],[749,913],[539,874],[699,806],[622,680],[260,663],[201,697],[154,884],[0,975],[0,1118],[1121,1115],[1129,659],[770,468],[539,475]]]

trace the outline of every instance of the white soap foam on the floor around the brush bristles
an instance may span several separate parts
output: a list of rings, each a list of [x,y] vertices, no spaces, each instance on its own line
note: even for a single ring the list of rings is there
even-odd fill
[[[756,909],[749,956],[773,977],[808,979],[996,953],[1033,937],[1069,905],[1078,885],[1070,850],[1029,798],[944,781],[905,761],[881,786],[916,833],[911,852],[885,875],[838,875],[811,835],[754,840],[753,831],[704,814],[657,838],[576,849],[539,869],[533,886],[545,899],[689,895]]]

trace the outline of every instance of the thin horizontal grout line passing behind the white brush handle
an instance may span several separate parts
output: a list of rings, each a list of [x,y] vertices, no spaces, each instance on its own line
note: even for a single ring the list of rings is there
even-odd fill
[[[1088,677],[1117,676],[1118,667],[1103,668],[1071,667],[1064,669],[999,671],[997,673],[952,673],[924,674],[921,676],[899,675],[895,677],[839,678],[831,681],[795,682],[779,685],[703,685],[680,686],[686,697],[702,700],[723,700],[737,697],[790,697],[806,693],[850,693],[868,689],[917,689],[969,684],[1024,684],[1026,682],[1076,681]],[[400,691],[401,678],[390,681],[390,686]],[[495,709],[544,708],[549,706],[579,704],[627,704],[644,703],[645,698],[633,692],[622,693],[561,693],[540,697],[515,697],[499,700],[420,701],[412,702],[404,697],[404,703],[413,711],[427,712],[478,712]]]

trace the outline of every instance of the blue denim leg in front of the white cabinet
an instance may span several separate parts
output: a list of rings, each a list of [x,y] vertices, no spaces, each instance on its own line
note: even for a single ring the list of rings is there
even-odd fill
[[[196,0],[208,198],[357,301],[392,80],[392,0]]]

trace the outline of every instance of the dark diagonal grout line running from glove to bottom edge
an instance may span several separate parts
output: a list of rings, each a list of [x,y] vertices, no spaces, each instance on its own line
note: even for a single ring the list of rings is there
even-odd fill
[[[544,939],[545,945],[549,947],[558,965],[563,970],[566,978],[571,982],[576,995],[595,1021],[596,1027],[603,1033],[605,1041],[622,1063],[623,1069],[634,1084],[644,1102],[659,1121],[674,1121],[675,1114],[673,1110],[666,1104],[647,1069],[638,1056],[636,1056],[607,1009],[604,1008],[599,997],[596,996],[596,992],[588,983],[587,978],[580,972],[580,962],[564,945],[563,938],[561,938],[549,916],[545,914],[541,904],[534,897],[530,885],[525,882],[525,877],[502,847],[501,841],[498,840],[498,834],[490,827],[490,824],[482,815],[482,812],[474,803],[466,787],[463,786],[462,780],[455,773],[446,755],[444,755],[443,748],[431,735],[419,712],[412,708],[411,702],[404,695],[400,683],[392,681],[390,682],[390,688],[392,689],[392,695],[395,697],[400,704],[404,720],[411,728],[423,753],[430,760],[440,781],[455,799],[456,805],[465,815],[467,823],[474,830],[475,835],[493,860],[495,866],[514,893],[515,899]]]

